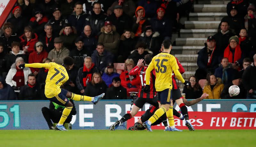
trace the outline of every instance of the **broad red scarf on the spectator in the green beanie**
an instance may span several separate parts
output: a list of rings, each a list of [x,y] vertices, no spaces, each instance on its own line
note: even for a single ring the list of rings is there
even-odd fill
[[[238,44],[235,48],[235,56],[233,60],[233,54],[230,51],[230,48],[231,48],[230,45],[228,45],[228,47],[224,51],[224,57],[228,58],[228,62],[235,63],[237,60],[241,58],[242,51],[241,51],[240,45]]]

